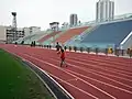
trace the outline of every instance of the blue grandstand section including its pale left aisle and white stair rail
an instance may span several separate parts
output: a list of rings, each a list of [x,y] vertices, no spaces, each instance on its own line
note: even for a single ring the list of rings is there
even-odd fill
[[[68,41],[66,45],[78,47],[121,47],[127,50],[132,46],[132,19],[91,26],[92,30],[85,31],[77,37]]]

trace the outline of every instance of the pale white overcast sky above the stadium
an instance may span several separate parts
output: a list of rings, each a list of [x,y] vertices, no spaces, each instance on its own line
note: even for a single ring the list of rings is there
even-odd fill
[[[69,14],[77,13],[81,22],[96,19],[98,0],[0,0],[0,25],[11,25],[12,11],[16,11],[18,26],[48,28],[48,23],[69,22]],[[112,0],[114,14],[132,13],[132,0]]]

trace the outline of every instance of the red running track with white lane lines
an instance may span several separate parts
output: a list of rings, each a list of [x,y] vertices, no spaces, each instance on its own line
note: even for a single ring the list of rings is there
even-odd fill
[[[59,67],[54,50],[3,45],[56,79],[75,99],[132,99],[132,59],[66,52],[68,67]]]

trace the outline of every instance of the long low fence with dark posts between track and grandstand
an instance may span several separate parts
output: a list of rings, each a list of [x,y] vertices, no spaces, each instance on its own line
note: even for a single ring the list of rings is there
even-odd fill
[[[44,47],[44,48],[55,48],[52,45],[31,45],[32,47]],[[76,46],[63,46],[65,51],[69,52],[80,52],[80,53],[95,53],[96,55],[113,55],[113,56],[127,56],[132,57],[132,48],[120,50],[120,48],[99,48],[99,47],[76,47]]]

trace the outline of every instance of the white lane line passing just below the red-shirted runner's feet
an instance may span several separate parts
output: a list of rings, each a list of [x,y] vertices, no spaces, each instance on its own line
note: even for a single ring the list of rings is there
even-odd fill
[[[54,64],[51,64],[51,63],[44,62],[44,61],[42,61],[42,59],[35,58],[35,57],[33,57],[33,56],[31,56],[31,55],[28,55],[28,54],[24,54],[24,55],[26,55],[26,56],[29,56],[29,57],[31,57],[31,58],[34,58],[34,59],[36,59],[36,61],[38,61],[38,62],[42,62],[42,63],[48,64],[48,65],[51,65],[51,66],[53,66],[53,67],[55,67],[55,68],[61,69],[58,66],[55,66]],[[111,96],[110,94],[103,91],[102,89],[100,89],[100,88],[98,88],[98,87],[91,85],[90,82],[87,82],[87,81],[85,81],[84,79],[81,79],[81,78],[79,78],[79,77],[77,77],[77,76],[75,76],[75,75],[73,75],[73,74],[70,74],[70,73],[65,72],[65,69],[61,69],[61,70],[63,70],[64,73],[69,74],[69,75],[72,75],[72,76],[76,77],[77,79],[80,79],[80,80],[84,81],[85,84],[87,84],[87,85],[91,86],[92,88],[99,90],[100,92],[102,92],[102,94],[105,94],[105,95],[111,97],[112,99],[117,99],[116,97],[113,97],[113,96]]]

